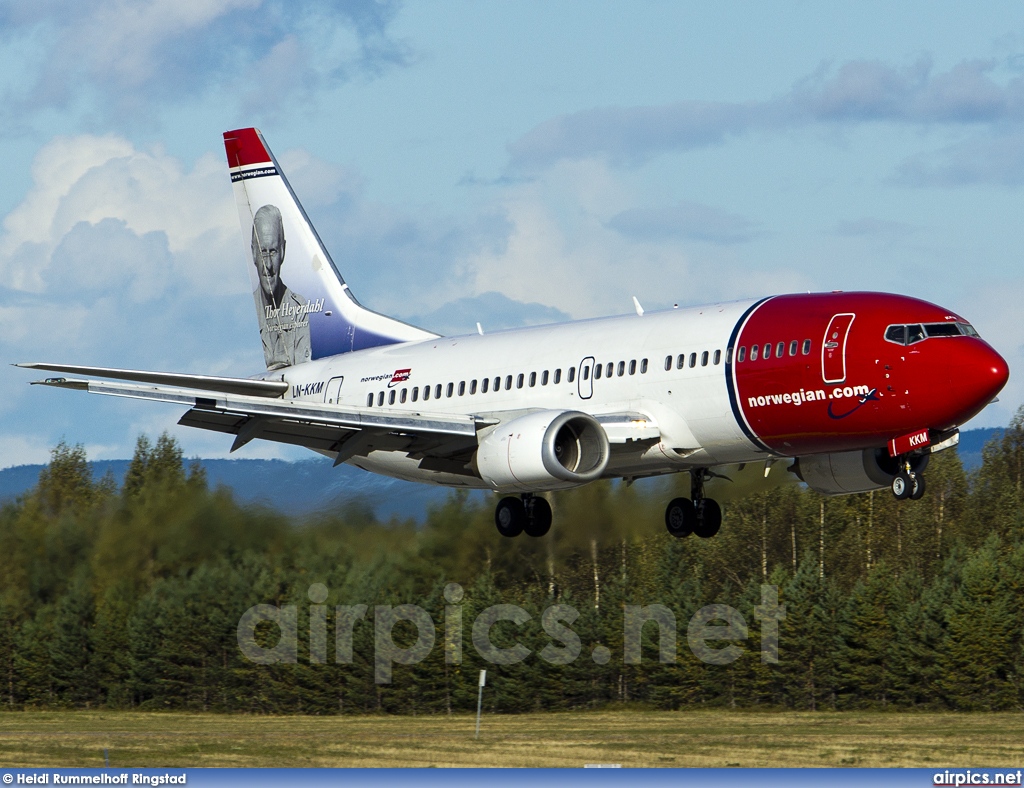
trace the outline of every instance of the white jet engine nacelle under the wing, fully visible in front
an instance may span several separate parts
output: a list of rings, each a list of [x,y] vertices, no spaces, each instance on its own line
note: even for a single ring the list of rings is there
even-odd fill
[[[575,410],[539,410],[496,427],[476,450],[480,478],[499,492],[577,487],[600,478],[608,436]]]

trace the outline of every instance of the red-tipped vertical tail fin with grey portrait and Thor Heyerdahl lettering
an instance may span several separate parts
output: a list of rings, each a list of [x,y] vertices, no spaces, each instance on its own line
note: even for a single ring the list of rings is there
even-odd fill
[[[224,148],[268,369],[437,336],[355,300],[259,131]]]

